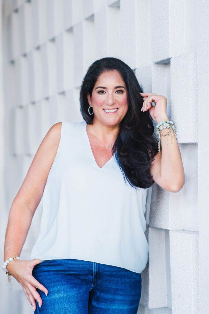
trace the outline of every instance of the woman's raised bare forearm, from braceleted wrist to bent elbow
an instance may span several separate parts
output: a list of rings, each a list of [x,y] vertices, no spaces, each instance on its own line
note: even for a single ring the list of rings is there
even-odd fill
[[[156,122],[167,121],[167,116],[159,117]],[[163,135],[168,133],[168,128],[163,129]],[[171,133],[170,133],[171,132]],[[175,138],[173,129],[169,132],[169,136],[161,136],[161,179],[170,186],[173,192],[181,190],[184,185],[184,168],[181,159],[181,153]],[[172,143],[171,143],[172,134]]]

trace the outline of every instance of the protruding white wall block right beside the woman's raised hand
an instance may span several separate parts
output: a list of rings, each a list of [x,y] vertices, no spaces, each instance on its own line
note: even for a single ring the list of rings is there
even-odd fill
[[[171,58],[171,120],[176,126],[179,143],[197,143],[197,55],[195,52]]]

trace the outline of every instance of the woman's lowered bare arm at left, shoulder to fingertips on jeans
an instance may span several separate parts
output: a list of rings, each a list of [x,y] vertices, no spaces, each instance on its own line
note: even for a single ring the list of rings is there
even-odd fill
[[[40,144],[23,184],[13,200],[9,212],[5,236],[4,261],[9,257],[20,256],[34,212],[40,203],[49,171],[57,153],[61,137],[62,122],[54,124]],[[8,264],[7,269],[23,286],[29,302],[36,308],[35,300],[42,305],[42,299],[36,287],[43,292],[48,290],[32,276],[33,267],[40,260],[15,260]]]

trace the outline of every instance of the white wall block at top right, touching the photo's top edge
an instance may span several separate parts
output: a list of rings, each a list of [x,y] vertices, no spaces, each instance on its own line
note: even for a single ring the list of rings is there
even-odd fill
[[[151,1],[152,60],[196,52],[196,0]]]

